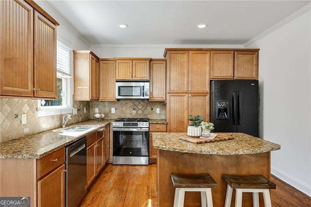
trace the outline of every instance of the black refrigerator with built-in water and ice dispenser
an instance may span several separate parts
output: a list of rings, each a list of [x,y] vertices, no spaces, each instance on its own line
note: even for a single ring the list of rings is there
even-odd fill
[[[214,132],[258,132],[259,95],[256,80],[210,82],[210,117]]]

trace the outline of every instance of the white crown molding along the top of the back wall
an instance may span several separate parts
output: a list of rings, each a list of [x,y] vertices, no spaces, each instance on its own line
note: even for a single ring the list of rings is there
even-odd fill
[[[243,48],[243,45],[92,44],[91,48]]]

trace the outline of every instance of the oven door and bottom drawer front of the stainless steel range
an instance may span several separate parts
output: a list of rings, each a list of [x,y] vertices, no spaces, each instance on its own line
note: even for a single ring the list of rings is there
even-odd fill
[[[149,128],[113,128],[112,130],[113,164],[148,164]]]

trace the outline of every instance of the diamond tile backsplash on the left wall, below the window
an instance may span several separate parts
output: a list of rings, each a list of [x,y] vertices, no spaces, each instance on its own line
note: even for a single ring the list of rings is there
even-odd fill
[[[74,101],[73,107],[79,109],[72,115],[68,124],[89,119],[89,102]],[[84,113],[86,107],[86,113]],[[15,118],[15,114],[18,115]],[[27,115],[27,123],[21,124],[21,114]],[[0,142],[61,127],[63,115],[38,117],[37,100],[0,99]]]

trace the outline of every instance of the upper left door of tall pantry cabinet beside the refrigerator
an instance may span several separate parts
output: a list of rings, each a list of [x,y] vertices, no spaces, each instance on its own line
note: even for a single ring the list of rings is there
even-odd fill
[[[168,93],[187,93],[189,52],[169,51],[167,58]]]

